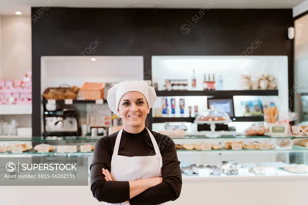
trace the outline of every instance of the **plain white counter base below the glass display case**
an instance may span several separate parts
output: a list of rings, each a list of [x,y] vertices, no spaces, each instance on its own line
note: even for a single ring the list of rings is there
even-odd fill
[[[168,205],[305,205],[308,174],[184,177],[180,198]],[[121,193],[119,193],[121,194]],[[102,205],[88,186],[0,186],[5,205]]]

